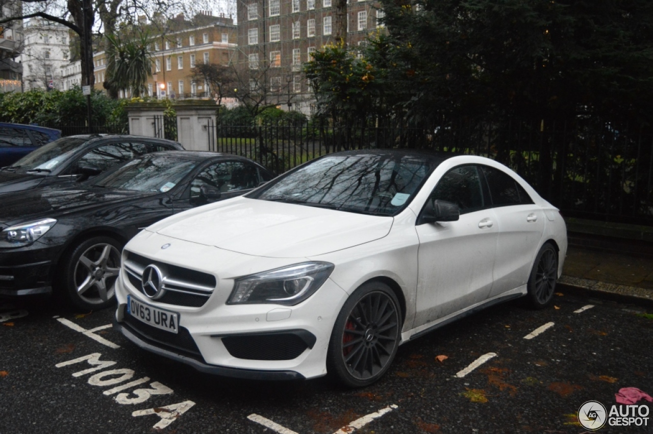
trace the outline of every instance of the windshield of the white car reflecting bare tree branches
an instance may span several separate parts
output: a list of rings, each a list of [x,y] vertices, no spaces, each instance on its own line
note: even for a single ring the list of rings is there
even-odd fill
[[[403,209],[432,171],[427,159],[394,153],[332,155],[248,197],[374,215]]]

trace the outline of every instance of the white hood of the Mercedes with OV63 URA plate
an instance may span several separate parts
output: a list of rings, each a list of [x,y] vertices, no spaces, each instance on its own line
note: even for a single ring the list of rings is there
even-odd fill
[[[323,255],[385,237],[392,217],[244,197],[191,209],[147,230],[246,255]]]

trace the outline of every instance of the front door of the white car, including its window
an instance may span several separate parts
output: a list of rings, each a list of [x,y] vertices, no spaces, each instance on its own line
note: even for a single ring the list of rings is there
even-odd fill
[[[496,215],[486,204],[477,166],[447,172],[429,198],[436,199],[458,204],[460,219],[416,226],[416,327],[483,302],[492,288]]]

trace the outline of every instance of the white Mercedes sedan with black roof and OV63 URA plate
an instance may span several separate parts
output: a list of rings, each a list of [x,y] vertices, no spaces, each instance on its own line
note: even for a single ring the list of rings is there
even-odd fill
[[[550,305],[566,250],[558,209],[502,164],[334,153],[140,232],[116,327],[207,373],[365,386],[451,320],[520,296]]]

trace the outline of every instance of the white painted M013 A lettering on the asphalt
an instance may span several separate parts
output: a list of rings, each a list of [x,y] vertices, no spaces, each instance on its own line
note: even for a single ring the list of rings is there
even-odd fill
[[[74,323],[71,324],[76,325]],[[58,363],[55,366],[64,367],[64,366],[73,365],[81,362],[87,362],[92,367],[89,367],[88,369],[82,369],[82,371],[77,371],[75,373],[72,373],[72,377],[81,377],[82,375],[99,371],[98,373],[95,373],[91,375],[91,377],[89,377],[87,382],[88,384],[91,384],[91,386],[99,386],[99,387],[113,386],[114,384],[119,384],[121,382],[130,380],[134,376],[135,371],[133,371],[133,369],[127,369],[127,368],[110,369],[108,371],[103,371],[103,369],[115,365],[116,362],[114,362],[113,360],[100,360],[101,356],[102,356],[101,353],[94,352],[92,354],[78,357],[73,360],[67,360],[66,362]],[[142,379],[138,379],[129,382],[127,384],[123,384],[121,386],[116,386],[109,390],[105,390],[103,394],[112,395],[117,392],[120,392],[121,390],[135,387],[138,386],[139,384],[148,381],[150,381],[149,377],[143,377]],[[150,399],[152,395],[169,395],[172,393],[173,393],[172,389],[170,389],[167,386],[164,386],[158,381],[154,381],[150,383],[150,388],[139,388],[136,390],[132,390],[130,393],[118,394],[116,395],[116,397],[114,397],[114,401],[116,401],[116,403],[123,404],[123,405],[138,404],[147,401],[148,399]],[[130,397],[130,395],[132,394],[136,396]],[[153,426],[153,428],[163,429],[168,425],[172,424],[172,422],[174,422],[177,418],[179,418],[179,416],[181,416],[183,413],[187,412],[191,407],[193,407],[193,405],[195,405],[193,401],[183,401],[176,404],[166,405],[165,407],[154,407],[153,409],[137,410],[132,412],[131,415],[133,417],[138,417],[138,416],[148,416],[150,414],[156,414],[157,416],[159,416],[160,420]]]

